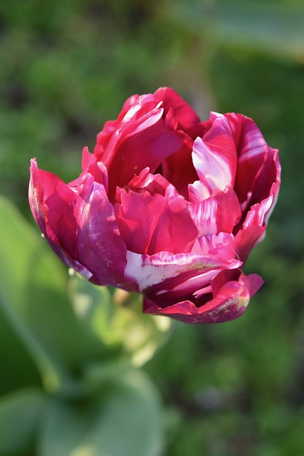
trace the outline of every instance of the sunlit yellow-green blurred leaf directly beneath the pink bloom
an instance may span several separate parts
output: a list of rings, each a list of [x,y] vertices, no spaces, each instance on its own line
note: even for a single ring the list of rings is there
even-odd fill
[[[166,340],[169,318],[142,314],[139,294],[116,290],[111,296],[107,288],[94,286],[79,274],[70,279],[69,289],[80,318],[100,341],[121,347],[122,355],[127,355],[133,366],[140,367],[149,361]]]

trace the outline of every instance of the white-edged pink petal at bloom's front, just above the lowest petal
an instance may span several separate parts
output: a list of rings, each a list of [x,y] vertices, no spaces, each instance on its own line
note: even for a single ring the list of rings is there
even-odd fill
[[[241,261],[235,259],[234,241],[229,234],[210,237],[205,252],[189,254],[140,255],[127,252],[125,276],[138,284],[147,296],[167,293],[177,296],[191,294],[209,284],[222,269],[236,269]],[[175,291],[175,292],[174,292]]]

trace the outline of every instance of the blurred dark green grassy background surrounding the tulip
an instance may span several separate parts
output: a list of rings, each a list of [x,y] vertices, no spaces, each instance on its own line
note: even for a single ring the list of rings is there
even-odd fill
[[[31,224],[30,158],[73,180],[133,93],[171,86],[202,119],[246,114],[280,149],[281,194],[246,265],[263,288],[237,321],[174,323],[145,371],[164,402],[163,456],[303,455],[303,1],[2,1],[0,58],[0,193]],[[0,393],[39,385],[2,326]]]

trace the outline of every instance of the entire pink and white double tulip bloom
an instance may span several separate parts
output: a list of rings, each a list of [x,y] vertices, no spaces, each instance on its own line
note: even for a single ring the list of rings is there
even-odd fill
[[[278,150],[253,120],[201,122],[170,88],[133,95],[65,184],[31,160],[33,217],[65,264],[138,291],[143,310],[189,323],[238,318],[263,284],[243,274],[280,186]]]

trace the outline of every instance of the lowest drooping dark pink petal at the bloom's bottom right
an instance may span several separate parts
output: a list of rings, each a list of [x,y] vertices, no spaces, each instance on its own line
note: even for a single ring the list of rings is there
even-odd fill
[[[226,282],[216,296],[202,306],[196,306],[189,300],[172,306],[159,306],[145,299],[144,312],[171,316],[187,323],[222,323],[239,318],[246,310],[252,296],[251,289],[256,291],[259,286],[261,283],[258,283],[256,274],[253,276],[241,274],[238,281]]]

